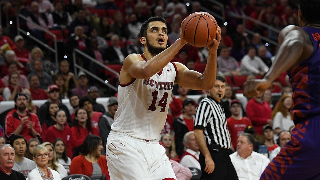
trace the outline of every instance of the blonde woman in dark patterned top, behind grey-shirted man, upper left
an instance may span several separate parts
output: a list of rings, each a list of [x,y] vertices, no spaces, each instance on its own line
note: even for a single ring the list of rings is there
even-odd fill
[[[44,54],[43,54],[43,51],[39,47],[35,47],[31,50],[31,58],[32,58],[32,60],[40,59],[42,61],[43,71],[47,72],[51,76],[58,73],[58,69],[57,69],[56,65],[54,65],[54,63],[52,63],[51,61],[49,61],[47,59],[46,60],[43,59]],[[32,71],[32,72],[35,71],[33,66],[34,66],[33,61],[27,65],[29,71]]]

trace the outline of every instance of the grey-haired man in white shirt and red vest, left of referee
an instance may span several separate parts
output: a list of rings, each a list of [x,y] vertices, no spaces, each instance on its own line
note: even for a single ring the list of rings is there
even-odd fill
[[[194,131],[189,131],[183,136],[183,144],[185,146],[185,151],[180,157],[180,164],[188,168],[201,169],[199,163],[200,151],[196,142]]]

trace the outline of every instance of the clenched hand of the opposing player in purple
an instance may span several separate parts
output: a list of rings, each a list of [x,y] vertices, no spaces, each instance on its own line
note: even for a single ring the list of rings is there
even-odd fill
[[[261,96],[271,86],[266,79],[252,79],[244,83],[243,94],[246,97]]]

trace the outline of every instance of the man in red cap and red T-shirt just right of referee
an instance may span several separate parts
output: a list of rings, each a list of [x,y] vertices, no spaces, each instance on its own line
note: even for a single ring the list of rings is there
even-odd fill
[[[230,102],[231,117],[227,119],[227,127],[231,137],[232,148],[235,150],[239,135],[244,133],[244,129],[252,126],[252,122],[247,117],[241,116],[241,103],[234,99]]]

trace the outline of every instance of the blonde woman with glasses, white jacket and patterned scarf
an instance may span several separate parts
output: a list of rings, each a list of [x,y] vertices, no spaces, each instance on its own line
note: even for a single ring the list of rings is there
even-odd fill
[[[29,180],[61,180],[59,173],[48,167],[49,154],[46,147],[38,145],[33,151],[33,160],[37,167],[29,172]]]

